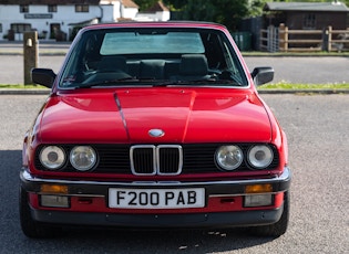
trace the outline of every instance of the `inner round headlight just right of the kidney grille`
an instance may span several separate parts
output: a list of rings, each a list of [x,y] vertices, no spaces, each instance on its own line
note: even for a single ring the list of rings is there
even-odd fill
[[[225,170],[238,168],[244,160],[244,155],[238,146],[222,146],[216,151],[216,161]]]

